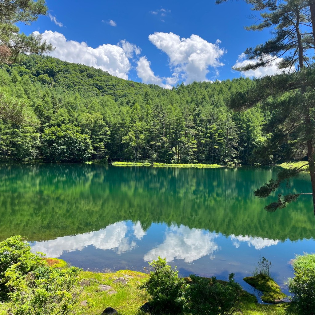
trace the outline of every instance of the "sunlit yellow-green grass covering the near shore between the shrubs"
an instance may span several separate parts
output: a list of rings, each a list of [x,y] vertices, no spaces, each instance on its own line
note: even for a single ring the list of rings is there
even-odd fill
[[[128,277],[126,277],[126,275]],[[131,277],[130,277],[131,276]],[[128,280],[126,285],[115,284],[113,281],[119,277]],[[85,286],[79,297],[79,305],[75,308],[74,315],[94,315],[101,314],[108,306],[118,311],[119,315],[145,315],[139,307],[149,300],[149,294],[144,288],[149,275],[143,272],[130,270],[120,270],[111,273],[87,272],[82,271],[79,281],[85,280]],[[188,281],[187,281],[188,282]],[[223,283],[223,281],[222,281]],[[99,285],[110,285],[117,293],[109,294],[108,291],[100,291]],[[240,309],[236,315],[297,315],[293,303],[282,304],[259,304],[253,295],[243,291],[241,296]],[[86,306],[80,305],[86,301]],[[5,304],[2,305],[5,308]],[[0,304],[1,309],[1,304]],[[0,315],[6,315],[5,311],[0,310]],[[190,315],[190,314],[179,314]]]

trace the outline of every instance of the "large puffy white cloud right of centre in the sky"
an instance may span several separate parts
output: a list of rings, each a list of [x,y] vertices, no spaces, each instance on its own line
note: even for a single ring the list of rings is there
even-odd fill
[[[217,67],[223,66],[219,59],[226,51],[219,47],[219,40],[213,44],[198,35],[180,38],[172,32],[155,32],[149,35],[149,40],[168,55],[173,76],[177,75],[186,84],[208,81],[209,67],[214,68],[217,75]]]

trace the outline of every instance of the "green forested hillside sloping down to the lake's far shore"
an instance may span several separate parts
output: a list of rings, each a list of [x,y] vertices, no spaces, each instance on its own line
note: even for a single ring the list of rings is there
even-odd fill
[[[260,162],[268,115],[231,112],[231,93],[249,79],[194,82],[172,90],[123,80],[88,66],[25,56],[0,69],[0,153],[4,160]],[[268,162],[268,161],[262,161]]]

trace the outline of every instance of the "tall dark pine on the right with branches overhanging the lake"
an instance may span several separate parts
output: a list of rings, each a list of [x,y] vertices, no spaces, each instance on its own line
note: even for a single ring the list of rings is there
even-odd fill
[[[218,0],[217,3],[224,2]],[[312,1],[283,0],[246,1],[253,4],[253,10],[261,12],[261,23],[247,27],[249,30],[271,28],[272,38],[255,48],[245,51],[252,63],[237,70],[246,71],[260,66],[268,66],[279,60],[278,66],[285,70],[283,74],[254,80],[249,90],[238,91],[230,99],[234,109],[251,108],[257,102],[271,113],[266,124],[272,131],[272,137],[261,147],[261,155],[274,152],[274,148],[283,147],[289,154],[296,154],[300,159],[307,157],[311,175],[312,192],[278,195],[278,200],[265,207],[268,211],[284,208],[288,202],[296,200],[301,194],[313,197],[315,215],[315,116],[314,116],[314,74],[313,65],[315,48],[315,6]],[[282,57],[282,59],[278,59]],[[297,73],[293,73],[297,72]],[[268,154],[268,153],[267,153]],[[303,168],[283,170],[276,180],[270,180],[258,188],[255,195],[267,197],[274,192],[281,182],[297,176]]]

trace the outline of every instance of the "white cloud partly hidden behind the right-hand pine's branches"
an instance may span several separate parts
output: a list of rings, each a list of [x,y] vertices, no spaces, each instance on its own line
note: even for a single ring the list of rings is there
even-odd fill
[[[271,58],[270,55],[266,55],[266,59]],[[259,67],[255,70],[248,70],[248,71],[241,71],[241,73],[245,77],[265,77],[265,76],[272,76],[274,74],[280,74],[283,72],[288,73],[290,71],[289,68],[285,69],[279,69],[278,64],[281,62],[283,58],[276,58],[275,60],[271,61],[270,64],[266,67]],[[247,60],[246,59],[246,54],[242,53],[238,56],[238,59],[236,60],[236,63],[233,67],[238,68],[238,67],[243,67],[247,66],[249,64],[254,64],[256,63],[257,60]]]

